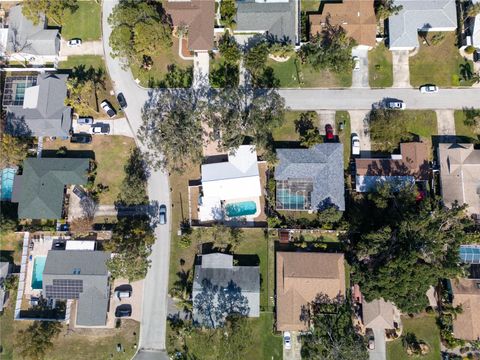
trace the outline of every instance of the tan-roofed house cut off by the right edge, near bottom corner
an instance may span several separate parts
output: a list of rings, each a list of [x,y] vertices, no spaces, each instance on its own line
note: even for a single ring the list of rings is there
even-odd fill
[[[453,336],[458,339],[480,340],[480,280],[450,280],[452,305],[461,305],[462,312],[453,319]]]

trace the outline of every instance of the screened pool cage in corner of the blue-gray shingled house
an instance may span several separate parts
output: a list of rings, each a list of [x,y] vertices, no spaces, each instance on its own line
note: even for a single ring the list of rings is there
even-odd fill
[[[277,210],[305,211],[312,208],[313,179],[277,180],[275,207]],[[302,196],[303,202],[287,201]]]

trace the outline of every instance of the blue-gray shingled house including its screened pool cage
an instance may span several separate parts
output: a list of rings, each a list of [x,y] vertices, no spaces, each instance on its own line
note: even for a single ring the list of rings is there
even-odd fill
[[[278,149],[275,168],[276,208],[345,210],[343,145],[318,144],[310,149]]]

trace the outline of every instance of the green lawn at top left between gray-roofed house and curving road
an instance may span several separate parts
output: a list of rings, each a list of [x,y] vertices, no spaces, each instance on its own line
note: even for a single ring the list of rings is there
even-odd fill
[[[80,0],[77,11],[67,12],[62,26],[65,40],[80,38],[82,41],[101,38],[101,7],[94,0]]]

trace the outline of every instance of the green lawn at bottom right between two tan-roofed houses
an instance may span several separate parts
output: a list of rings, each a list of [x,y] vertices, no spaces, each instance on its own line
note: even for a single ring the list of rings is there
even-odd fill
[[[430,352],[425,356],[409,357],[402,346],[401,339],[387,342],[387,360],[405,360],[422,359],[437,360],[440,359],[440,331],[433,315],[420,315],[415,318],[402,317],[403,335],[412,332],[418,340],[423,340],[430,347]]]

